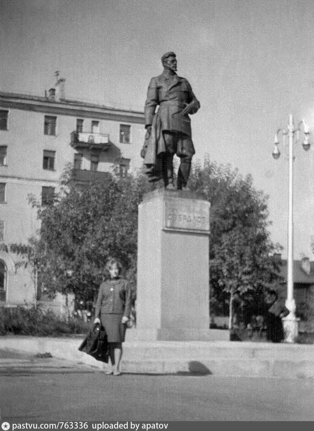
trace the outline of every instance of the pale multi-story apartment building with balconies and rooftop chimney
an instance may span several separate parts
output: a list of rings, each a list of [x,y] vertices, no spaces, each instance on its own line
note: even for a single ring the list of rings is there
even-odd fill
[[[39,228],[28,195],[47,203],[68,163],[78,185],[140,166],[143,112],[66,100],[64,86],[45,97],[0,92],[0,244],[27,244]],[[0,305],[36,300],[34,273],[18,261],[0,248]]]

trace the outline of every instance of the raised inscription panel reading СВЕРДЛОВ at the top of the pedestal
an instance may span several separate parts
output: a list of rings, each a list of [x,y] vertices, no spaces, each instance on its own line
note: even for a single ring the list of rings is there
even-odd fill
[[[164,201],[164,228],[209,232],[209,202],[168,197]]]

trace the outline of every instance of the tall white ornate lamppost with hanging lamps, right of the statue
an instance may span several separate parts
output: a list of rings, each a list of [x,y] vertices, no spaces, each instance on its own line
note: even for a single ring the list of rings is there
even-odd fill
[[[289,137],[289,216],[288,216],[288,274],[287,274],[287,299],[286,307],[289,310],[289,315],[283,318],[283,327],[285,330],[285,340],[288,343],[294,343],[295,338],[298,335],[298,320],[295,317],[295,300],[293,298],[293,138],[296,132],[296,143],[299,141],[299,131],[303,125],[305,140],[302,143],[302,147],[305,151],[310,149],[309,129],[305,120],[299,122],[298,127],[295,129],[293,125],[292,115],[289,115],[289,124],[287,130],[278,129],[275,134],[273,157],[277,160],[280,157],[280,151],[278,149],[279,139],[278,136],[281,133],[283,136],[283,144],[286,135]]]

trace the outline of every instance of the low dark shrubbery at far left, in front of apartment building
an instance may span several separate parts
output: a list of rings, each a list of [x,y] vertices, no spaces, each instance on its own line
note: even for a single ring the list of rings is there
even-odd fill
[[[65,319],[55,315],[51,310],[42,311],[31,307],[0,309],[0,334],[60,336],[84,334],[90,328],[90,323],[77,319]]]

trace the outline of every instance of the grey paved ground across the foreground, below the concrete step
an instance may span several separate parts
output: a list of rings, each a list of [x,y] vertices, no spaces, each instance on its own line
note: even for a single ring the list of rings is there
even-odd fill
[[[16,421],[313,421],[313,379],[105,375],[1,352],[0,412]]]

